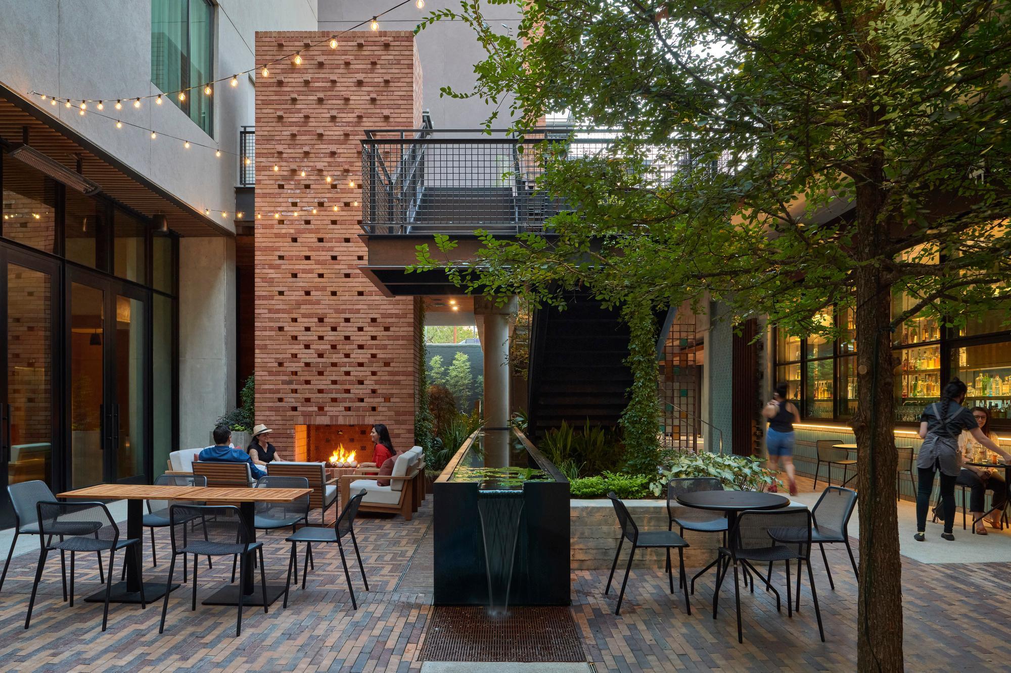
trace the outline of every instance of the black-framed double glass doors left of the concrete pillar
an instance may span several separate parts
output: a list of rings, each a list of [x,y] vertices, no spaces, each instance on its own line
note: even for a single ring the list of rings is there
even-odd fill
[[[148,291],[80,269],[67,276],[71,486],[144,483]]]

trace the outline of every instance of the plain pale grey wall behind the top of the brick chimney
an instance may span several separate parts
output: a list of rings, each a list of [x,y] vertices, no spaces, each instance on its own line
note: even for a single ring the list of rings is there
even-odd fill
[[[395,4],[395,3],[386,3]],[[430,12],[440,9],[459,10],[457,0],[426,0],[419,10],[415,3],[407,3],[379,21],[380,30],[412,30]],[[319,29],[339,32],[368,20],[377,11],[386,9],[376,0],[319,0]],[[516,34],[520,12],[514,5],[486,6],[488,24],[504,33],[509,26]],[[367,30],[363,26],[359,30]],[[439,21],[418,33],[418,54],[422,62],[424,95],[422,107],[432,111],[436,128],[477,128],[488,117],[493,106],[480,99],[457,100],[440,97],[439,90],[451,86],[454,90],[470,91],[474,83],[474,65],[485,58],[484,49],[477,42],[473,30],[462,21]],[[510,123],[509,101],[498,108],[496,127]]]

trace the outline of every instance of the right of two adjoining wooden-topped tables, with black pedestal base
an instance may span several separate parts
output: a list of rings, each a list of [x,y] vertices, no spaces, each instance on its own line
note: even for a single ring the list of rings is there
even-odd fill
[[[312,492],[311,488],[208,488],[200,487],[187,490],[187,496],[193,500],[228,502],[239,505],[246,530],[249,531],[250,542],[256,542],[256,517],[257,502],[294,502],[298,498]],[[253,564],[246,564],[246,572],[243,573],[238,585],[228,586],[215,591],[203,601],[204,605],[238,605],[239,592],[243,592],[244,605],[263,605],[263,593],[254,591],[253,586]],[[283,584],[267,585],[267,604],[270,605],[278,596],[284,593]]]

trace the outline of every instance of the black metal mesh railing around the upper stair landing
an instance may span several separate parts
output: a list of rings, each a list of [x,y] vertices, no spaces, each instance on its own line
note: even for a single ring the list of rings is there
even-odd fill
[[[539,128],[522,139],[508,131],[422,128],[370,129],[362,140],[362,228],[367,233],[493,233],[540,231],[567,209],[539,189],[552,142],[565,159],[621,159],[614,131]],[[556,146],[557,147],[557,146]],[[646,158],[651,181],[669,183],[699,162],[679,147]],[[726,170],[726,162],[704,169]]]

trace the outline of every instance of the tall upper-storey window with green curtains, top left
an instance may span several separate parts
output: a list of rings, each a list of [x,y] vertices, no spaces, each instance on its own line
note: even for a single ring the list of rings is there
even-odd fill
[[[213,5],[208,0],[152,0],[151,81],[208,135],[214,132],[214,96],[203,88],[213,80]]]

